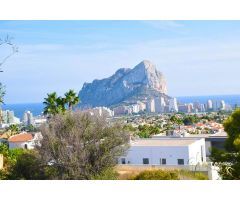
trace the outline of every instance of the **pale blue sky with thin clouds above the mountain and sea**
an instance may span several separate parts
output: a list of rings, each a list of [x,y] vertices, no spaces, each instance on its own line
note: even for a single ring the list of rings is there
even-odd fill
[[[0,74],[6,103],[78,92],[144,59],[164,73],[171,96],[240,94],[240,21],[0,21],[6,35],[19,47]]]

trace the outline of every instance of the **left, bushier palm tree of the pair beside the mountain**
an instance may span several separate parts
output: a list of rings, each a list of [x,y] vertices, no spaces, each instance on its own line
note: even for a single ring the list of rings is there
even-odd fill
[[[56,92],[47,94],[47,98],[44,98],[43,104],[45,104],[44,114],[45,115],[56,115],[58,113],[65,112],[64,99],[57,96]]]

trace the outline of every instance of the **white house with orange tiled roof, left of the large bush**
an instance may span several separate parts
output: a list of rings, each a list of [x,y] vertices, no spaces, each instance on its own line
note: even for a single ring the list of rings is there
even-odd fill
[[[9,149],[23,148],[34,149],[36,144],[42,139],[41,133],[20,133],[8,139]]]

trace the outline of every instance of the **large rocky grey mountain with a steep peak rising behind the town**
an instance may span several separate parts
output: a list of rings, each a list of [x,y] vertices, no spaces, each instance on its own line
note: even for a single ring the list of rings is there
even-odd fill
[[[114,106],[167,95],[163,74],[154,64],[144,60],[133,69],[121,68],[114,75],[92,83],[84,83],[79,97],[81,107]]]

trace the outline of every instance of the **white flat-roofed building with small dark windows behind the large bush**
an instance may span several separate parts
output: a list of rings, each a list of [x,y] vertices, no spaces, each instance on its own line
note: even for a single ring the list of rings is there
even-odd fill
[[[197,165],[206,162],[205,140],[164,138],[132,141],[119,164],[130,165]]]

